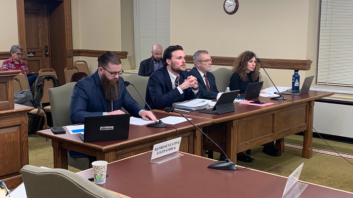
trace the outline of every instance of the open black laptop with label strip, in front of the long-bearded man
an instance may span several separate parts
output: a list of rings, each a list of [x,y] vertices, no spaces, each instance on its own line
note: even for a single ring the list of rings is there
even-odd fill
[[[83,142],[123,140],[129,137],[130,114],[86,116]]]

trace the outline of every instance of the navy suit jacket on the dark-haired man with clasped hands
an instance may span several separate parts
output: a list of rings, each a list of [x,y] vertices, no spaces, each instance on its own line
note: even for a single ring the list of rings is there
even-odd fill
[[[179,74],[179,85],[187,79],[187,76],[187,71]],[[164,109],[172,106],[174,102],[182,102],[198,97],[198,93],[195,95],[191,88],[184,89],[183,92],[183,94],[180,94],[177,88],[173,89],[168,69],[167,67],[162,67],[154,71],[148,79],[146,103],[151,109]]]

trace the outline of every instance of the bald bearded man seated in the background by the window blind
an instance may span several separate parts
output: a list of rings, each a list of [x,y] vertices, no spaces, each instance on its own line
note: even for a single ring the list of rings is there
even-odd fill
[[[162,60],[163,48],[159,44],[152,46],[152,57],[146,60],[141,61],[140,68],[138,70],[139,76],[150,76],[152,72],[156,71],[159,68],[163,67]]]

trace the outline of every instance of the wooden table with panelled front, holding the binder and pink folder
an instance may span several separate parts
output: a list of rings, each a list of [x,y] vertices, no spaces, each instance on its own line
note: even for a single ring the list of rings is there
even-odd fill
[[[283,138],[304,131],[302,157],[312,157],[312,124],[314,101],[334,93],[309,91],[303,95],[283,95],[292,100],[271,100],[259,97],[260,101],[276,103],[261,107],[234,103],[235,111],[221,115],[200,113],[198,111],[181,112],[186,116],[215,121],[215,124],[204,128],[204,132],[225,150],[232,162],[237,161],[237,153],[255,146],[276,141],[276,147],[284,151]],[[297,109],[298,107],[298,109]],[[299,110],[299,111],[298,111]],[[162,112],[163,110],[156,110]],[[175,113],[176,114],[176,113]],[[309,122],[309,124],[305,121]],[[310,126],[311,125],[311,126]],[[208,139],[203,138],[202,155],[205,150],[219,151]]]

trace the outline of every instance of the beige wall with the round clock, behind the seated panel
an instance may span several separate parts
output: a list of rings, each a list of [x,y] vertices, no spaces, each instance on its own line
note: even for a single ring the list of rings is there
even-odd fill
[[[222,6],[214,0],[170,1],[170,44],[190,55],[204,49],[211,56],[235,57],[250,50],[259,58],[316,59],[318,0],[240,1],[233,15]],[[310,71],[299,72],[303,80],[315,74],[313,63]],[[293,70],[267,72],[276,85],[291,86]],[[273,86],[263,71],[262,76],[264,87]]]

